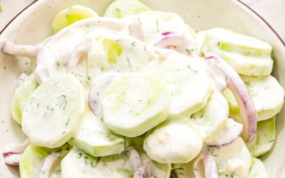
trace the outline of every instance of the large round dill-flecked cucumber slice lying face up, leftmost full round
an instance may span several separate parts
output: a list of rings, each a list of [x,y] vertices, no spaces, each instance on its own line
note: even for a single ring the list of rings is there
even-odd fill
[[[84,113],[83,87],[72,75],[42,83],[22,113],[22,130],[32,143],[59,147],[75,136]]]

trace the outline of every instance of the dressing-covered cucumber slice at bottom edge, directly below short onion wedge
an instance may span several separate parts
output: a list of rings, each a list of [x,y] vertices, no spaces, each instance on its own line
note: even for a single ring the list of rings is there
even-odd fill
[[[207,147],[214,156],[219,178],[245,178],[251,165],[250,153],[242,138],[222,147]]]

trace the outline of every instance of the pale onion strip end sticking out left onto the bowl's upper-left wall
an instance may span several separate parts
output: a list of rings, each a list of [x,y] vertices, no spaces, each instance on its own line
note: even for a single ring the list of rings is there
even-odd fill
[[[5,42],[3,52],[11,55],[20,55],[33,58],[39,53],[39,47],[31,45],[16,45],[11,42]]]

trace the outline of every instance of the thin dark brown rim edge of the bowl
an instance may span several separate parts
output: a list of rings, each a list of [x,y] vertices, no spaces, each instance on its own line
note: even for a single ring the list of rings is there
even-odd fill
[[[243,1],[241,0],[231,0],[231,1],[236,1],[238,2],[241,6],[244,6],[245,8],[247,8],[248,10],[250,10],[252,13],[254,13],[258,18],[260,18],[265,25],[275,34],[275,36],[277,36],[277,38],[279,39],[279,41],[283,44],[283,47],[285,48],[285,41],[283,41],[283,39],[279,36],[279,34],[274,30],[274,28],[265,20],[265,18],[263,18],[261,15],[259,15],[255,10],[253,10],[251,7],[249,7],[247,4],[245,4]],[[0,35],[5,31],[5,29],[18,17],[20,16],[20,14],[24,11],[26,11],[30,6],[32,6],[34,3],[38,2],[38,0],[33,1],[32,3],[30,3],[28,6],[26,6],[25,8],[23,8],[14,18],[12,18],[5,26],[4,28],[0,31]]]

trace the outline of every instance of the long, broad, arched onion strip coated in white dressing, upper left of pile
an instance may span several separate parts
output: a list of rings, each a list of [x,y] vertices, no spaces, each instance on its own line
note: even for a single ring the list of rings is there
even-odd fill
[[[56,33],[37,55],[37,81],[65,74],[72,52],[85,39],[95,41],[110,34],[128,35],[128,30],[122,20],[98,17],[80,20]]]

